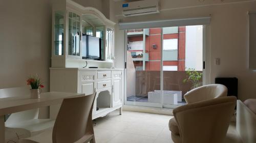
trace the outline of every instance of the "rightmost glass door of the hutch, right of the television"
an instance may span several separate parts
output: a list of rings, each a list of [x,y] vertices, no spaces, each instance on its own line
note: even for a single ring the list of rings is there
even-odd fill
[[[112,60],[114,56],[114,30],[107,28],[106,30],[106,60]]]

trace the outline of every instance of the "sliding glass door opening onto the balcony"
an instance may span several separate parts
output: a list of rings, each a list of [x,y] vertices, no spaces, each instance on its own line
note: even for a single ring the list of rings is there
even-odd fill
[[[188,72],[203,70],[203,25],[126,30],[126,38],[125,104],[185,104],[183,95],[193,87]]]

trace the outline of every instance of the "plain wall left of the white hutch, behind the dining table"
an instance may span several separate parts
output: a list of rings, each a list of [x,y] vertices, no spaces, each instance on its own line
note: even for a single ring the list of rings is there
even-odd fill
[[[0,89],[25,86],[37,73],[49,91],[50,0],[0,1],[0,21]]]

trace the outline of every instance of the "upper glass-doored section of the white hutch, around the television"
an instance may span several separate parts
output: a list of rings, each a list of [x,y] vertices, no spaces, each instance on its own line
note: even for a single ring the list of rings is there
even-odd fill
[[[89,66],[106,63],[107,65],[101,68],[112,67],[114,22],[107,19],[97,9],[83,7],[71,0],[67,0],[65,4],[54,0],[52,18],[52,67],[69,68],[75,65],[80,68],[86,61],[89,62]],[[102,39],[102,61],[82,59],[81,37],[83,33]]]

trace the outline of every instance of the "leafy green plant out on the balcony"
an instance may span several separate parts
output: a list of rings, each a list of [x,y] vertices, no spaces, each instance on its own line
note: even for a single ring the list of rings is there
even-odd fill
[[[200,79],[202,78],[203,73],[200,73],[193,68],[188,68],[186,70],[186,74],[187,74],[186,78],[183,79],[183,82],[189,82],[189,81],[192,82],[192,87],[191,87],[192,89],[195,89],[201,86]]]

